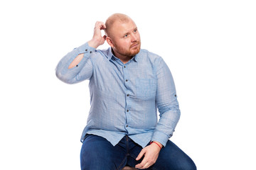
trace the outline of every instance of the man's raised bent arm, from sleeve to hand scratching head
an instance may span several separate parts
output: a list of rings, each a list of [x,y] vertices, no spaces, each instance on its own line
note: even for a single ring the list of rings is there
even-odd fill
[[[55,69],[58,79],[68,84],[75,84],[82,80],[90,79],[92,76],[90,54],[98,46],[104,44],[106,36],[102,37],[100,30],[105,28],[104,23],[97,21],[92,40],[75,48],[60,60]]]

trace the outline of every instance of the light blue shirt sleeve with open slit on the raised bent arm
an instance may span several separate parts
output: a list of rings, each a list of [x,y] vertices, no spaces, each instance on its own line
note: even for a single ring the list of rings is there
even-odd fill
[[[61,81],[67,84],[75,84],[85,79],[90,79],[92,77],[92,61],[90,60],[90,55],[95,51],[94,47],[90,47],[86,42],[84,45],[81,45],[78,48],[75,48],[73,51],[68,52],[60,62],[58,62],[57,67],[55,68],[55,74]],[[75,57],[80,54],[84,54],[82,60],[76,67],[68,69],[69,65]]]

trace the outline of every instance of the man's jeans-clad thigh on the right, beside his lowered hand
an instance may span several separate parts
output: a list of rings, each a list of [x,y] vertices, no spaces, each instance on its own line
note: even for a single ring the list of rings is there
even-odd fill
[[[166,147],[161,149],[159,157],[151,169],[196,170],[196,165],[187,154],[169,140]]]

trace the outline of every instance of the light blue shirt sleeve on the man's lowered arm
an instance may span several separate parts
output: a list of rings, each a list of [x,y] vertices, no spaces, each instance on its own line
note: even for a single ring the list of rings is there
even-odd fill
[[[178,107],[174,79],[169,67],[160,57],[156,64],[156,105],[159,110],[159,122],[156,125],[151,141],[160,142],[164,147],[173,135],[178,123],[181,111]]]

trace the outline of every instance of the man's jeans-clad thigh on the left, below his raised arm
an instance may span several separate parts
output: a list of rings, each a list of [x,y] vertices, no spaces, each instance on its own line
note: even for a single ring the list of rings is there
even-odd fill
[[[80,153],[81,169],[114,170],[126,164],[125,153],[120,147],[113,147],[103,137],[87,135]]]

